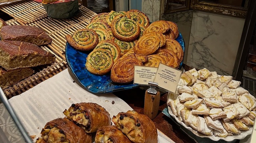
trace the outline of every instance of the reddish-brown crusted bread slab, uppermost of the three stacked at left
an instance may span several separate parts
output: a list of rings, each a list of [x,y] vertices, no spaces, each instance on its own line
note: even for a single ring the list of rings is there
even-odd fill
[[[52,42],[47,33],[38,27],[26,25],[7,25],[0,30],[2,40],[24,41],[37,46]]]

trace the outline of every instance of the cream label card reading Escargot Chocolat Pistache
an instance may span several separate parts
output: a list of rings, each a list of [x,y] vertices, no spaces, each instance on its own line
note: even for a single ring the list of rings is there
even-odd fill
[[[149,81],[153,82],[157,69],[155,67],[134,66],[133,84],[148,85]]]

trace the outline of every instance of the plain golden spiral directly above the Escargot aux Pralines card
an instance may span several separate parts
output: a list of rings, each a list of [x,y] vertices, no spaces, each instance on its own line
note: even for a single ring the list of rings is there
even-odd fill
[[[162,56],[164,58],[166,65],[171,66],[173,68],[178,68],[180,61],[178,56],[170,49],[161,49],[157,55]]]

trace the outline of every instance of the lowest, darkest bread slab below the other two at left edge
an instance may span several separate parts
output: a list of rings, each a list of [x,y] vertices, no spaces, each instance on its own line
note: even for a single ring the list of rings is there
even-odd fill
[[[32,68],[20,68],[6,71],[0,67],[0,87],[4,90],[33,74]]]

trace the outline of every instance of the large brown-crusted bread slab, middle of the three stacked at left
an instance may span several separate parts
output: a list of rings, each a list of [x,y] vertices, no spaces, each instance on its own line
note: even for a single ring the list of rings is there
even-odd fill
[[[55,56],[38,46],[22,41],[0,41],[0,66],[5,70],[36,67],[54,62]]]

